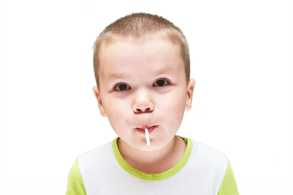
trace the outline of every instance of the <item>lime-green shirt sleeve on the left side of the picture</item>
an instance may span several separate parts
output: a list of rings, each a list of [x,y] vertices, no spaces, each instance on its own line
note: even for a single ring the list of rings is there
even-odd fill
[[[65,195],[86,195],[83,178],[78,165],[78,158],[70,169]]]

